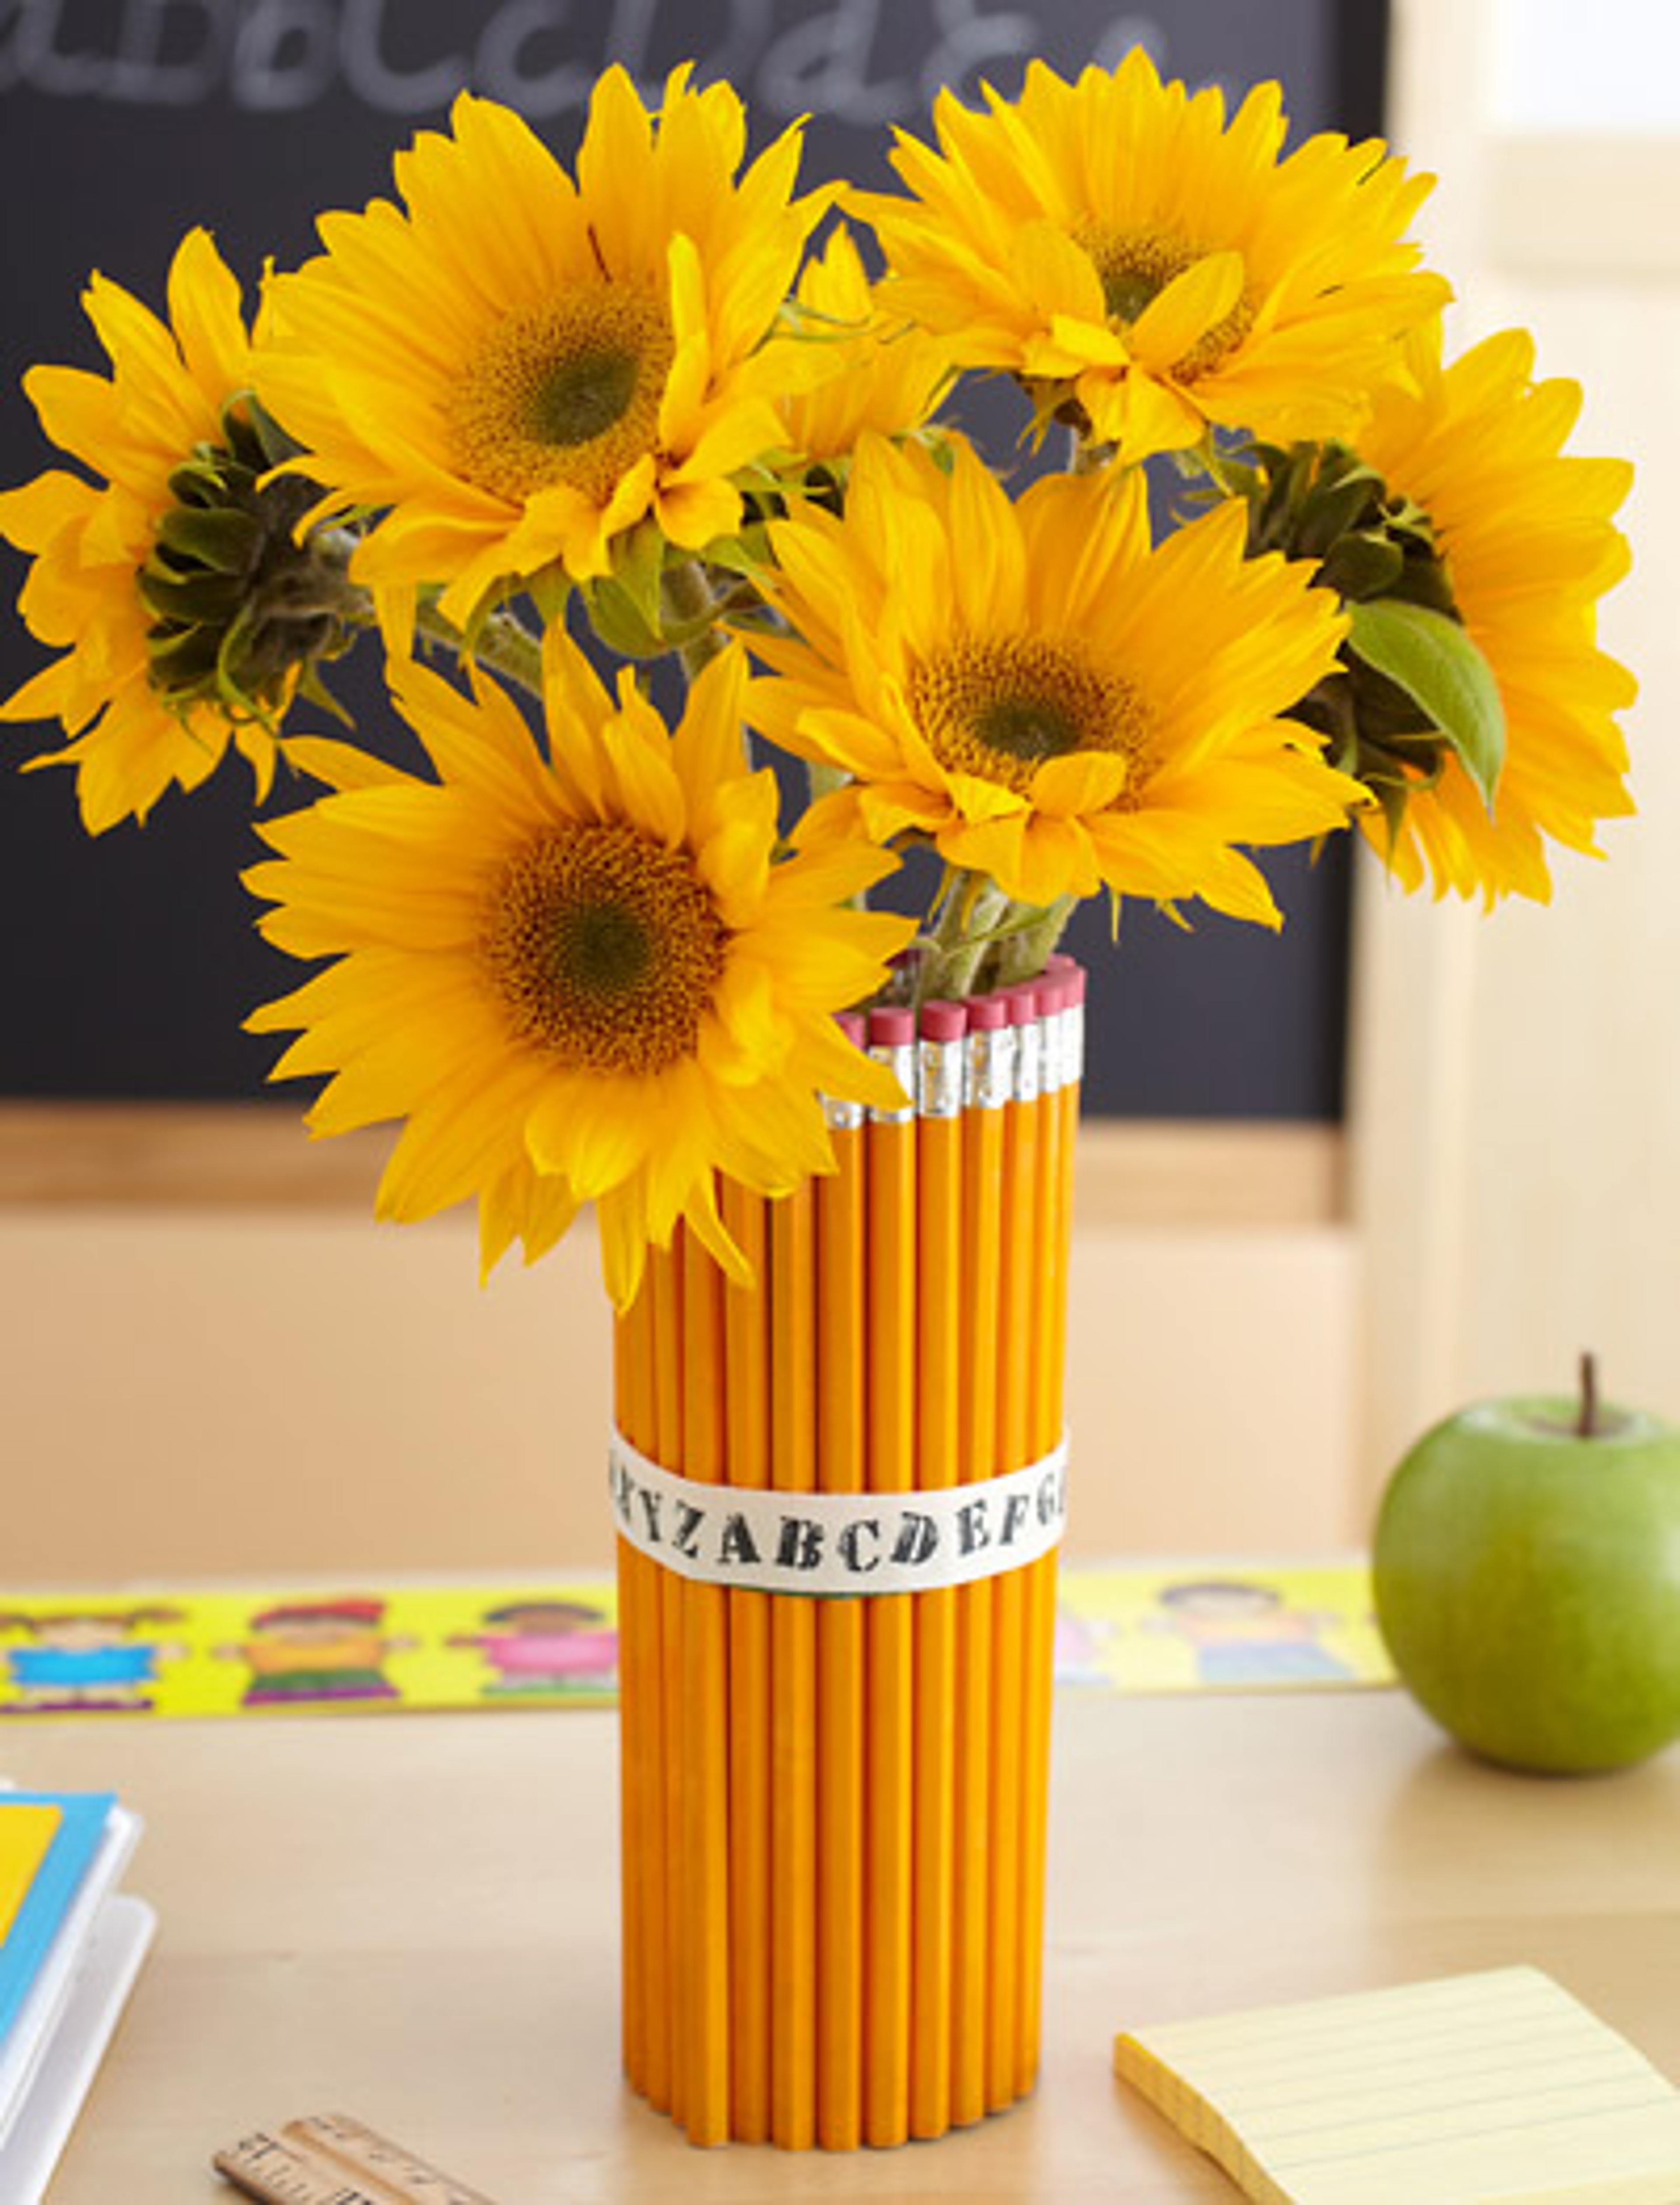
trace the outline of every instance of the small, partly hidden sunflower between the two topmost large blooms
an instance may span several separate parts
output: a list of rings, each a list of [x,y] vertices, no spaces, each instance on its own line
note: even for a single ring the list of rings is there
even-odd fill
[[[780,399],[785,441],[811,463],[844,461],[858,439],[922,428],[950,377],[944,346],[884,315],[849,229],[836,229],[798,280],[794,322],[814,357],[811,388]]]

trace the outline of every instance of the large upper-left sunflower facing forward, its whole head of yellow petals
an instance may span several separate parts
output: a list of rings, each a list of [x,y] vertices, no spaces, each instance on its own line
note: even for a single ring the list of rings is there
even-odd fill
[[[670,75],[657,119],[597,84],[578,181],[511,110],[463,95],[397,157],[406,212],[320,223],[273,287],[260,390],[333,507],[388,507],[355,560],[392,635],[423,582],[467,626],[509,580],[611,571],[653,516],[699,551],[776,448],[765,344],[825,196],[789,198],[800,137],[734,181],[739,97]]]

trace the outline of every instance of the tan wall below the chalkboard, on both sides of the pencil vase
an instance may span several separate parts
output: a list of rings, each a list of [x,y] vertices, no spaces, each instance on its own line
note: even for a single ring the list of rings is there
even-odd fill
[[[176,1202],[121,1200],[99,1131],[0,1138],[0,1585],[606,1563],[586,1230],[481,1290],[461,1219],[368,1222],[355,1151],[287,1125],[271,1200],[238,1120],[194,1125],[207,1193]],[[130,1144],[130,1191],[170,1180],[163,1140]],[[1336,1155],[1323,1129],[1091,1138],[1071,1552],[1358,1541]]]

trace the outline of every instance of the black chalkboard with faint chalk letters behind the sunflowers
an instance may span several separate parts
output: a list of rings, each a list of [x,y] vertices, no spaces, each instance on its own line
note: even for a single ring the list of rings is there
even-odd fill
[[[1385,0],[0,0],[0,483],[51,454],[20,397],[35,359],[104,366],[77,295],[99,267],[152,304],[179,236],[214,229],[251,284],[295,262],[320,209],[390,192],[390,154],[461,86],[575,150],[609,62],[646,88],[683,57],[728,75],[756,135],[811,112],[807,179],[889,183],[893,123],[935,88],[1012,88],[1142,42],[1171,75],[1241,93],[1281,77],[1296,132],[1380,128]],[[0,547],[11,604],[22,560]],[[42,653],[0,615],[0,690]],[[355,668],[351,668],[355,675]],[[377,686],[353,684],[377,736]],[[0,759],[33,730],[0,728]],[[84,840],[68,774],[0,770],[0,1094],[258,1094],[273,1043],[240,1032],[298,968],[251,931],[249,781],[229,763],[146,829]],[[1129,911],[1074,946],[1100,966],[1087,1107],[1142,1116],[1340,1114],[1347,860],[1270,862],[1281,937]]]

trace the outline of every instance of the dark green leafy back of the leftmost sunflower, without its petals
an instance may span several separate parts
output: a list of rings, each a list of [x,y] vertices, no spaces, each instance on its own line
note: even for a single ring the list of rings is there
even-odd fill
[[[348,650],[368,604],[348,580],[353,538],[300,536],[320,490],[273,474],[298,445],[249,395],[220,426],[170,476],[174,505],[139,573],[152,690],[174,712],[212,703],[271,725],[295,688],[331,703],[317,668]]]

